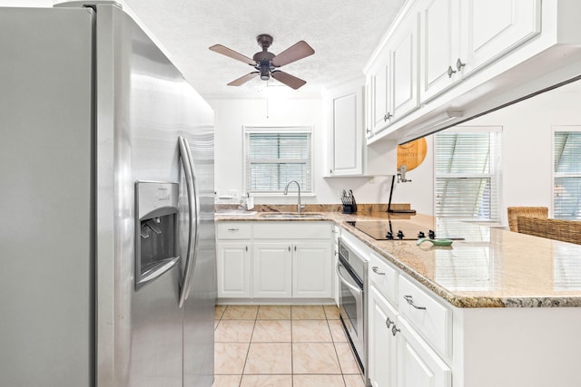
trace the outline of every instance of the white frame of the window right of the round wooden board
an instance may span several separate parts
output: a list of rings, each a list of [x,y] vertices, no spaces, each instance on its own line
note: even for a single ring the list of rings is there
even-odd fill
[[[496,154],[494,155],[494,159],[490,159],[491,168],[494,168],[492,173],[487,174],[473,174],[473,173],[464,173],[461,175],[458,174],[438,174],[437,168],[437,150],[436,150],[436,136],[438,133],[434,134],[434,180],[433,180],[433,187],[434,187],[434,208],[433,213],[434,216],[438,217],[438,198],[437,198],[437,187],[438,187],[438,179],[481,179],[481,178],[489,178],[491,179],[491,184],[496,184],[496,188],[491,188],[493,194],[496,194],[496,203],[493,203],[495,208],[491,208],[491,218],[460,218],[460,217],[441,217],[441,218],[455,218],[465,222],[473,222],[473,223],[482,223],[486,225],[500,225],[502,220],[501,215],[501,208],[502,208],[502,133],[503,127],[500,125],[483,125],[483,126],[456,126],[453,128],[449,128],[446,131],[442,131],[440,133],[470,133],[470,132],[487,132],[487,133],[495,133],[495,148]],[[496,192],[495,192],[496,191]]]

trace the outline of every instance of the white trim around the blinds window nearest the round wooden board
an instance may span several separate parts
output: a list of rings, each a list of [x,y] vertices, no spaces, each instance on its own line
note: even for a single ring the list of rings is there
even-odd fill
[[[497,220],[483,220],[483,219],[461,219],[461,221],[463,222],[468,222],[468,223],[474,223],[474,224],[482,224],[482,225],[487,225],[487,226],[502,226],[502,214],[500,213],[501,208],[503,208],[503,187],[502,187],[502,132],[503,132],[503,127],[500,125],[482,125],[482,126],[455,126],[452,128],[448,128],[446,130],[446,132],[448,133],[465,133],[465,132],[497,132],[499,133],[499,150],[497,152],[497,160],[495,160],[495,162],[497,163],[497,212],[498,212],[498,219]],[[432,152],[432,165],[434,166],[434,174],[433,174],[433,181],[432,181],[432,187],[434,189],[434,191],[432,192],[432,195],[434,197],[433,199],[433,208],[432,208],[432,213],[436,214],[436,187],[437,187],[437,178],[447,178],[450,177],[448,175],[437,175],[436,173],[436,138],[435,136],[438,133],[435,133],[434,136],[434,151]],[[483,177],[484,175],[478,175],[478,177]],[[490,174],[488,175],[491,178],[494,178],[494,174]],[[468,175],[465,175],[463,177],[468,177]],[[476,177],[476,176],[474,176]]]

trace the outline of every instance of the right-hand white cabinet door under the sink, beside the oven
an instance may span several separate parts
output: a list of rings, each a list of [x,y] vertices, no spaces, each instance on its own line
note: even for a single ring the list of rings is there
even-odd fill
[[[292,251],[292,296],[331,296],[330,242],[299,242]]]

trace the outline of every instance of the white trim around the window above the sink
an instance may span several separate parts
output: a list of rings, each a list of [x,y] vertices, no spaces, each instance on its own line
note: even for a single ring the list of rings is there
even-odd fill
[[[315,198],[317,196],[317,190],[315,187],[315,143],[314,143],[314,132],[312,125],[242,125],[242,169],[243,169],[243,192],[249,192],[248,188],[248,176],[246,173],[246,134],[248,133],[273,133],[273,132],[284,132],[284,133],[310,133],[310,187],[312,187],[312,192],[303,193],[300,192],[301,198]],[[283,195],[282,193],[274,192],[253,192],[253,197],[258,198],[286,198],[286,197],[296,197],[295,192],[289,192],[288,195]]]

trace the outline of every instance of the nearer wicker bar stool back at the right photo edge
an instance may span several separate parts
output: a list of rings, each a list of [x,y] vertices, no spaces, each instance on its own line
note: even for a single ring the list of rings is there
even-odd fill
[[[581,245],[581,221],[517,217],[518,232]]]

